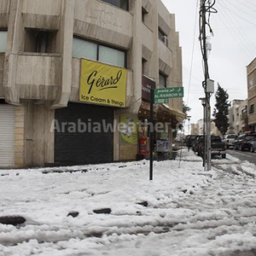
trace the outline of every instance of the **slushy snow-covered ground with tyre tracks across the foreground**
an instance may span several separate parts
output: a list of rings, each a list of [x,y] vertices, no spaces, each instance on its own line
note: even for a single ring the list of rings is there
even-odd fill
[[[256,255],[256,167],[212,164],[183,150],[153,181],[147,160],[0,170],[0,218],[26,218],[0,224],[0,256]]]

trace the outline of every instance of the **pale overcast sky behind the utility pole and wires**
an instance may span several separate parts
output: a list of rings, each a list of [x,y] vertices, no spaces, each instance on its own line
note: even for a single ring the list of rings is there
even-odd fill
[[[176,15],[176,30],[183,49],[183,101],[192,108],[191,123],[202,118],[199,98],[204,96],[204,79],[199,44],[200,0],[162,0],[170,13]],[[210,24],[212,51],[209,55],[210,78],[227,90],[230,101],[247,99],[247,65],[256,57],[256,3],[255,0],[217,0]],[[213,0],[212,0],[213,3]],[[194,41],[195,38],[195,41]],[[195,47],[193,50],[193,42]],[[192,57],[193,56],[193,57]],[[193,59],[193,61],[192,61]],[[192,65],[191,65],[192,63]],[[190,75],[190,70],[192,72]],[[212,112],[215,96],[211,98]],[[188,131],[188,121],[185,131]]]

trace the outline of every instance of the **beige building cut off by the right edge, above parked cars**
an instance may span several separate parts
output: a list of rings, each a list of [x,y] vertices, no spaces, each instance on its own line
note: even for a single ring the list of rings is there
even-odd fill
[[[256,58],[247,66],[247,131],[256,132]]]

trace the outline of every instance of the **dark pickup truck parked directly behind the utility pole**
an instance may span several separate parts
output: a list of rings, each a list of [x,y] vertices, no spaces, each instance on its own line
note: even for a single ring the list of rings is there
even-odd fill
[[[203,157],[205,150],[204,137],[199,139],[198,145],[198,155]],[[225,143],[221,141],[219,136],[211,136],[211,155],[221,155],[222,158],[226,158],[226,146]]]

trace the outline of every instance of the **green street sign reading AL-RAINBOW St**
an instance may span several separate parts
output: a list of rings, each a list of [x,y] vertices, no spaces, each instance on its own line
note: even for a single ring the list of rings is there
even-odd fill
[[[178,98],[183,96],[183,87],[154,89],[154,102],[156,102],[158,99]]]

